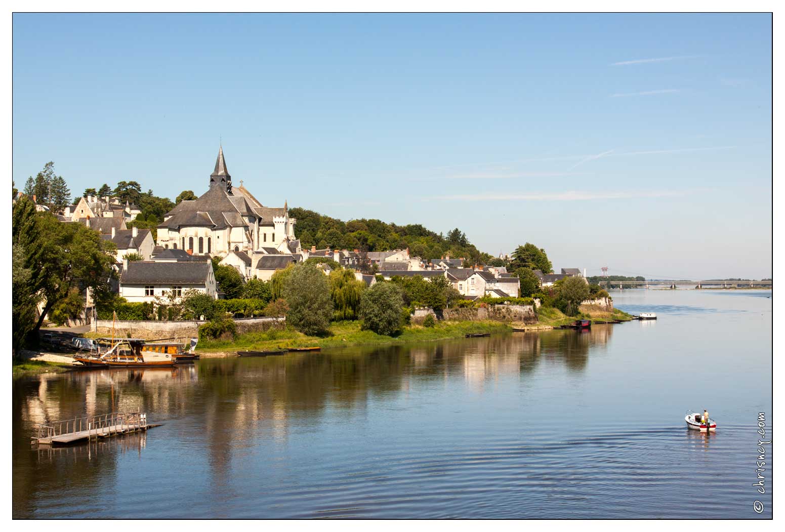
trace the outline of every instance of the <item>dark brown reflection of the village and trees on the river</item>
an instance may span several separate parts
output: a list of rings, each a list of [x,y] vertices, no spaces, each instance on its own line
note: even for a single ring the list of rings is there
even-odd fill
[[[232,468],[243,467],[236,457],[259,442],[286,446],[293,425],[318,423],[328,410],[356,417],[371,402],[384,402],[429,381],[463,381],[483,392],[504,379],[525,380],[540,371],[582,372],[591,350],[608,344],[612,330],[595,326],[586,332],[509,333],[411,347],[202,359],[170,369],[90,370],[20,379],[13,384],[14,512],[16,501],[35,498],[38,483],[46,486],[47,479],[66,482],[78,476],[97,481],[115,474],[122,453],[144,450],[141,438],[136,444],[129,439],[113,446],[39,453],[29,443],[38,424],[146,412],[151,422],[166,421],[148,438],[164,439],[176,452],[203,455],[209,481],[228,486]],[[87,461],[92,465],[87,467]],[[24,514],[24,503],[20,508]]]

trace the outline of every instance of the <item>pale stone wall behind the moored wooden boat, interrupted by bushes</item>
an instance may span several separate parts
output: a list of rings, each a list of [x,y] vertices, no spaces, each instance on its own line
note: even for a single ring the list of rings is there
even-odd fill
[[[195,338],[199,336],[199,326],[203,321],[133,321],[116,320],[115,336],[160,340],[162,338]],[[283,328],[286,318],[235,318],[238,333],[251,333],[268,330],[272,327]],[[111,319],[93,321],[93,333],[111,336]]]

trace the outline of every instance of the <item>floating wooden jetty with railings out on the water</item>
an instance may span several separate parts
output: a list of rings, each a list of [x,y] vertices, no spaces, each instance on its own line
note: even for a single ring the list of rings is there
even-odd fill
[[[148,428],[159,427],[147,422],[147,414],[103,414],[100,416],[76,417],[55,421],[52,425],[38,425],[38,435],[31,437],[31,443],[38,445],[68,445],[99,438],[144,432]]]

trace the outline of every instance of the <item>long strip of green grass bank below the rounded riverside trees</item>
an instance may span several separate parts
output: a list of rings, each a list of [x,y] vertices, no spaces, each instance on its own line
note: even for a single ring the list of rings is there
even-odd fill
[[[407,344],[419,341],[459,338],[469,333],[502,333],[512,328],[501,322],[437,322],[436,326],[406,326],[397,336],[390,337],[360,330],[360,322],[334,322],[330,333],[324,337],[306,336],[287,328],[268,330],[264,333],[239,334],[234,341],[202,340],[199,352],[265,351],[279,348],[319,346],[337,348],[349,345]]]

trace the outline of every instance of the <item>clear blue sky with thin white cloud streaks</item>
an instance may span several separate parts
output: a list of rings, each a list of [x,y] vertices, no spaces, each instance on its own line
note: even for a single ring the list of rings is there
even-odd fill
[[[13,16],[13,179],[458,227],[555,268],[772,274],[768,15]]]

